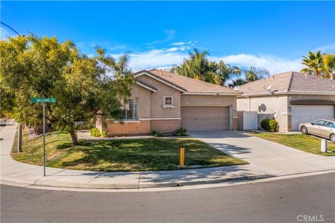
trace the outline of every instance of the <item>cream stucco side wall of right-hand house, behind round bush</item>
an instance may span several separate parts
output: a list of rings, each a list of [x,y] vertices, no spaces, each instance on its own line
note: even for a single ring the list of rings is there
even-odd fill
[[[258,112],[258,123],[262,118],[272,116],[278,122],[278,131],[287,132],[290,128],[288,119],[288,95],[260,96],[252,98],[237,98],[237,110],[249,111],[248,101],[250,100],[250,111]],[[276,114],[275,114],[276,113]]]

